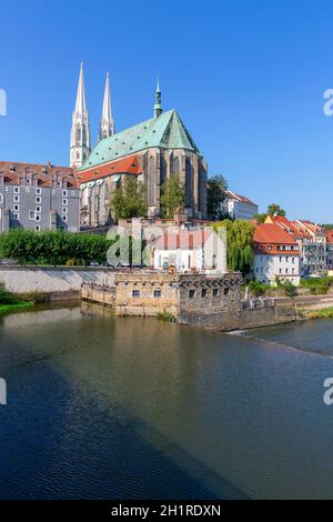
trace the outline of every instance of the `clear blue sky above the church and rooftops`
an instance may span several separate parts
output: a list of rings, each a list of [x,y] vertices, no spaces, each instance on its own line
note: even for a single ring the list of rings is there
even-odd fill
[[[84,62],[93,141],[105,71],[118,130],[151,117],[157,74],[209,163],[265,210],[333,222],[331,0],[2,0],[0,160],[68,164]]]

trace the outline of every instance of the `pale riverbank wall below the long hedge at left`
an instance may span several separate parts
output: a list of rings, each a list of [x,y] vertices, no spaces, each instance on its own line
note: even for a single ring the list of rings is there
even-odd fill
[[[114,271],[80,267],[0,267],[0,282],[14,293],[77,292],[82,283],[114,285]]]

